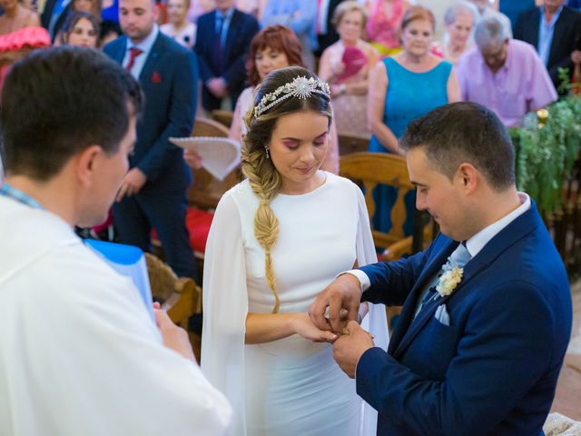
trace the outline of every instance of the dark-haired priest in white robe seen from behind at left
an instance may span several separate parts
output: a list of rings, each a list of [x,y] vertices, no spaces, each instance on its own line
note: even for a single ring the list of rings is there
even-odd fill
[[[74,234],[127,173],[139,84],[104,54],[58,47],[5,82],[0,188],[0,434],[224,434],[231,408],[187,333]]]

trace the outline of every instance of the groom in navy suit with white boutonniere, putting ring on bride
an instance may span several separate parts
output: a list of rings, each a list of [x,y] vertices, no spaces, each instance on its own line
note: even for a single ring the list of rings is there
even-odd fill
[[[340,275],[310,316],[340,332],[341,308],[354,320],[359,301],[403,304],[387,353],[357,322],[334,346],[379,411],[378,435],[542,434],[571,296],[535,203],[517,192],[507,131],[483,106],[448,104],[409,124],[400,146],[418,209],[442,234],[408,259]]]

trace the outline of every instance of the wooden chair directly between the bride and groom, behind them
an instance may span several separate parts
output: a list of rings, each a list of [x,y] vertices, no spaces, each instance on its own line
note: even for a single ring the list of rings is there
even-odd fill
[[[376,247],[385,247],[385,251],[378,256],[379,260],[391,262],[399,259],[404,254],[412,253],[412,236],[405,236],[403,224],[406,221],[407,210],[404,203],[404,196],[410,190],[415,189],[409,181],[408,167],[403,157],[395,154],[383,153],[353,153],[340,156],[340,175],[358,183],[365,192],[365,203],[367,205],[369,219],[375,213],[375,202],[373,200],[373,188],[379,183],[389,184],[398,188],[398,198],[391,210],[391,229],[389,233],[379,232],[373,229],[371,223],[371,233],[373,243]],[[428,233],[432,226],[428,224],[424,229],[424,241],[431,240]],[[388,308],[388,325],[391,326],[392,319],[399,314],[400,307]]]

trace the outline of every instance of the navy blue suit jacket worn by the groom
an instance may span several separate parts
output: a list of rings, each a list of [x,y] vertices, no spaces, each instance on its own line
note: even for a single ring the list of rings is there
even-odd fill
[[[359,360],[357,391],[379,411],[378,435],[542,434],[571,332],[563,263],[533,203],[412,322],[457,246],[440,235],[409,259],[361,268],[371,282],[362,300],[404,307],[388,352]],[[434,317],[440,304],[449,326]]]

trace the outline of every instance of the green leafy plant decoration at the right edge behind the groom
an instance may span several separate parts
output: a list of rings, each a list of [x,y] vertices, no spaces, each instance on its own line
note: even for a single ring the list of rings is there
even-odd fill
[[[561,188],[570,176],[581,146],[581,97],[569,95],[527,115],[523,127],[510,129],[517,149],[517,187],[543,213],[561,207]]]

